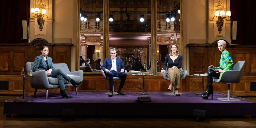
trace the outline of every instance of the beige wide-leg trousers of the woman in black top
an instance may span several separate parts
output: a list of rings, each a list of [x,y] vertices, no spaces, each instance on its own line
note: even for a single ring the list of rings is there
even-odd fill
[[[171,78],[171,82],[174,82],[174,88],[180,88],[180,80],[181,80],[182,71],[178,68],[172,69],[169,68],[166,76]]]

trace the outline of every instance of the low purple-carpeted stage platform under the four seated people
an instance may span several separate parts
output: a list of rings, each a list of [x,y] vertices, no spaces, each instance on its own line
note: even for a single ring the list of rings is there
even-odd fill
[[[214,93],[213,100],[203,100],[192,92],[183,95],[166,95],[165,92],[151,92],[150,95],[138,95],[125,92],[124,96],[108,97],[105,92],[68,92],[72,99],[61,98],[60,92],[38,92],[29,102],[4,102],[4,114],[25,115],[62,115],[63,109],[74,109],[75,115],[193,115],[194,109],[206,110],[207,115],[256,115],[256,103],[246,99],[228,102],[217,98],[226,95]],[[137,103],[138,97],[150,96],[151,102]],[[22,96],[19,97],[22,99]],[[239,98],[239,97],[238,97]]]

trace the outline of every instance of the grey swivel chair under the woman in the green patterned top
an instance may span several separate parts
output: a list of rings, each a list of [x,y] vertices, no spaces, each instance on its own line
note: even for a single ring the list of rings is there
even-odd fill
[[[220,79],[213,77],[214,82],[226,83],[227,84],[227,98],[218,98],[218,100],[222,101],[240,101],[240,99],[230,99],[230,84],[239,83],[243,76],[245,61],[237,62],[233,69],[225,71],[221,74]]]

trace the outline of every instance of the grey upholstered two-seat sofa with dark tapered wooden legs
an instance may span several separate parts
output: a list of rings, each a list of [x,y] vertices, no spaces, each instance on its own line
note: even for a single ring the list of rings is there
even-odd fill
[[[74,76],[69,76],[70,78],[74,79],[75,81],[82,81],[83,80],[83,71],[74,71],[70,72],[67,64],[59,63],[53,64],[55,69],[61,69],[66,74],[75,74]],[[26,63],[26,70],[32,70],[34,67],[34,62],[27,62]],[[29,84],[32,88],[35,88],[34,96],[36,96],[37,89],[45,89],[46,90],[46,99],[48,99],[48,89],[52,88],[59,88],[58,85],[58,78],[47,77],[47,74],[44,70],[32,72],[32,75],[35,77],[29,77]],[[64,79],[65,87],[73,87],[73,85]],[[77,87],[75,87],[75,92],[77,92]]]

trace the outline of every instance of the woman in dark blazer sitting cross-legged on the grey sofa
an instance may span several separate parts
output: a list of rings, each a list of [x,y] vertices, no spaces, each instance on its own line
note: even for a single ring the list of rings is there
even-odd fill
[[[64,85],[64,79],[67,81],[70,81],[73,86],[79,86],[82,81],[75,81],[67,76],[66,73],[64,73],[60,69],[54,69],[52,58],[48,57],[49,48],[47,46],[43,46],[41,48],[42,55],[37,56],[34,62],[33,72],[39,71],[39,70],[45,70],[48,77],[55,77],[58,78],[58,83],[60,87],[60,93],[62,98],[73,98],[72,96],[68,96],[65,85]],[[63,79],[64,78],[64,79]]]

